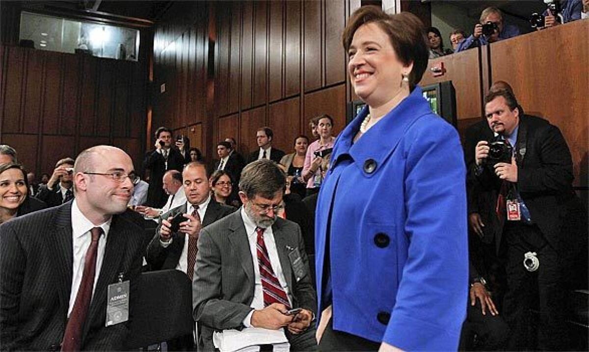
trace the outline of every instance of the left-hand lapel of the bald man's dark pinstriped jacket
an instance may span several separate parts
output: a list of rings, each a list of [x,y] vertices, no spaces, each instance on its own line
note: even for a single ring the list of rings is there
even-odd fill
[[[54,270],[57,274],[57,290],[61,313],[67,317],[72,288],[74,261],[71,226],[71,203],[59,207],[54,218],[55,227],[47,236],[47,247],[55,254]]]

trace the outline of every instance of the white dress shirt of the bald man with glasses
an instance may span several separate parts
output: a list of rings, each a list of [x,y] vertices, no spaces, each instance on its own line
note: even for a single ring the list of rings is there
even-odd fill
[[[68,308],[68,317],[74,308],[75,298],[78,295],[78,288],[82,283],[82,274],[84,273],[84,263],[86,261],[86,253],[92,242],[92,235],[90,230],[97,227],[92,224],[87,217],[82,214],[78,208],[77,200],[72,202],[72,243],[74,248],[74,265],[72,266],[72,290],[70,293],[70,307]],[[102,258],[104,258],[104,247],[107,243],[108,230],[110,229],[111,220],[101,224],[100,227],[104,231],[104,235],[98,238],[98,252],[96,256],[96,272],[94,275],[94,286],[92,287],[92,295],[96,288],[96,282],[100,276],[100,268],[102,267]]]

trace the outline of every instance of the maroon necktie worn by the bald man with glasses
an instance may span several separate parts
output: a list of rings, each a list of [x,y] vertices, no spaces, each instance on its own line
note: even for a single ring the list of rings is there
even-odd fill
[[[96,254],[98,252],[98,239],[102,234],[101,227],[94,227],[90,230],[92,242],[86,252],[84,271],[78,293],[75,297],[74,308],[70,313],[67,326],[65,327],[64,340],[61,343],[62,351],[80,351],[82,341],[82,327],[86,321],[88,308],[92,301],[92,288],[94,287],[94,276],[96,273]]]

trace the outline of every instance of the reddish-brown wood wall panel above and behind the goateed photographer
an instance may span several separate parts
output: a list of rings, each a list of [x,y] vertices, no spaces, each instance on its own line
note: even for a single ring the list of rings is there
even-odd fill
[[[575,21],[491,45],[491,81],[507,81],[526,114],[560,128],[575,185],[587,188],[589,21]],[[579,40],[585,38],[585,40]]]

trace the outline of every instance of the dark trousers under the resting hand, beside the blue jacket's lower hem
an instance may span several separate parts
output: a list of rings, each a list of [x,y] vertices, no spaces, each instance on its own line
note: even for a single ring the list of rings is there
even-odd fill
[[[481,302],[471,305],[468,299],[466,320],[462,324],[459,351],[501,351],[507,346],[509,327],[502,316],[493,316],[489,312],[483,315]],[[476,338],[475,338],[476,337]]]

